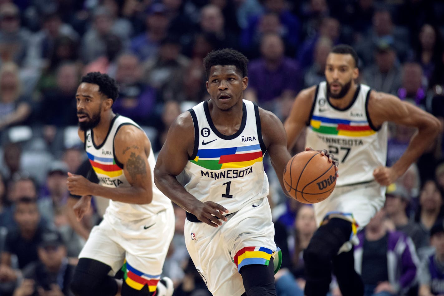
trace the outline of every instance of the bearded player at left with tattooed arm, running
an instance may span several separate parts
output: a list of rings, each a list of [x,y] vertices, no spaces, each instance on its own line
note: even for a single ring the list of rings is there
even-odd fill
[[[148,296],[157,286],[157,296],[171,295],[172,288],[166,294],[159,279],[174,232],[173,207],[154,184],[148,137],[134,121],[112,111],[117,96],[115,81],[99,72],[83,76],[75,95],[79,137],[99,184],[68,173],[68,190],[82,196],[74,212],[80,220],[91,195],[110,203],[79,254],[71,289],[79,296]],[[121,291],[112,277],[120,268]]]

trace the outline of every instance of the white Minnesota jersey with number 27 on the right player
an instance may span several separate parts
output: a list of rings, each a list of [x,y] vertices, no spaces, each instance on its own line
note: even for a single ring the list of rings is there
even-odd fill
[[[345,109],[330,104],[326,88],[325,81],[316,88],[305,146],[327,149],[334,154],[339,161],[336,186],[371,181],[373,170],[386,162],[387,123],[379,130],[371,123],[367,85],[357,86],[352,102]]]

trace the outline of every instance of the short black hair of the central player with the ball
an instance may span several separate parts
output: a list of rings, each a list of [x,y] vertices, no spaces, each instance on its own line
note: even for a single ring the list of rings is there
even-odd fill
[[[231,48],[224,48],[220,50],[213,50],[203,59],[206,77],[210,76],[210,69],[212,66],[234,65],[242,77],[248,75],[247,70],[248,59],[241,52]]]

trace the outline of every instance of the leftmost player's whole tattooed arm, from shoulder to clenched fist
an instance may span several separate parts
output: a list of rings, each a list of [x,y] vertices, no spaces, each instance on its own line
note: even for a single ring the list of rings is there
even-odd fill
[[[103,196],[128,204],[149,204],[153,198],[151,169],[147,160],[150,149],[151,143],[142,130],[134,125],[124,125],[114,138],[114,150],[131,186],[104,187],[83,176],[70,174],[68,190],[74,195]]]

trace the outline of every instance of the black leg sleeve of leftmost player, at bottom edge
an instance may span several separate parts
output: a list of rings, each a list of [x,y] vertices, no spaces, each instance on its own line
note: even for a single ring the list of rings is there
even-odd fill
[[[100,261],[80,258],[71,281],[71,291],[76,296],[114,296],[117,282],[108,272],[111,267]]]

